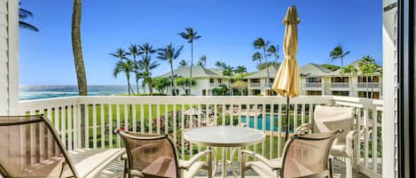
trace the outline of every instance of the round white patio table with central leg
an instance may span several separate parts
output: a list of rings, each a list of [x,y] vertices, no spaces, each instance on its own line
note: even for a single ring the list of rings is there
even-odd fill
[[[254,128],[232,126],[191,128],[184,131],[184,139],[191,143],[223,148],[223,177],[227,176],[227,148],[261,143],[265,137],[263,132]]]

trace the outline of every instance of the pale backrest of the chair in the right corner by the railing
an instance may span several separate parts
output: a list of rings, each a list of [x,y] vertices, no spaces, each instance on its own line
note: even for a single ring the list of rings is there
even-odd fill
[[[334,142],[336,144],[344,144],[349,130],[353,128],[354,108],[317,105],[313,120],[312,133],[342,129],[343,133]]]

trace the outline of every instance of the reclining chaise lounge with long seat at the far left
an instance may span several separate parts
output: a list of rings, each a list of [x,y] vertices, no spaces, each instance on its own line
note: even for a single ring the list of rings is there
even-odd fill
[[[92,178],[122,149],[65,150],[43,116],[0,116],[0,177]]]

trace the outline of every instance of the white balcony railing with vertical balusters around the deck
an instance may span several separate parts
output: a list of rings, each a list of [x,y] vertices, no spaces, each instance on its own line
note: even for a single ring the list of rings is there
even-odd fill
[[[305,96],[291,98],[290,103],[289,133],[313,120],[317,104],[354,107],[356,128],[360,133],[356,138],[355,166],[371,177],[381,177],[382,100]],[[87,117],[82,121],[80,111],[84,106]],[[200,112],[186,115],[185,111],[191,107]],[[277,158],[284,146],[281,141],[286,130],[280,128],[285,124],[285,120],[281,120],[285,108],[284,97],[60,97],[20,101],[21,113],[43,113],[51,120],[67,150],[82,148],[82,133],[87,148],[122,147],[121,138],[113,131],[126,128],[140,133],[171,135],[181,159],[203,149],[185,142],[182,131],[212,125],[263,130],[266,141],[250,149],[267,158]]]

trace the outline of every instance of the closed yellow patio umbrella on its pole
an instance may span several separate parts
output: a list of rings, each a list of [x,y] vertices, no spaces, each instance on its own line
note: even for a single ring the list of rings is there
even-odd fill
[[[300,74],[297,66],[297,25],[301,22],[297,15],[296,7],[287,9],[283,23],[286,26],[283,52],[285,60],[279,67],[273,82],[273,89],[283,97],[287,97],[286,104],[286,140],[289,134],[289,97],[300,95]],[[280,129],[280,128],[279,128]]]

